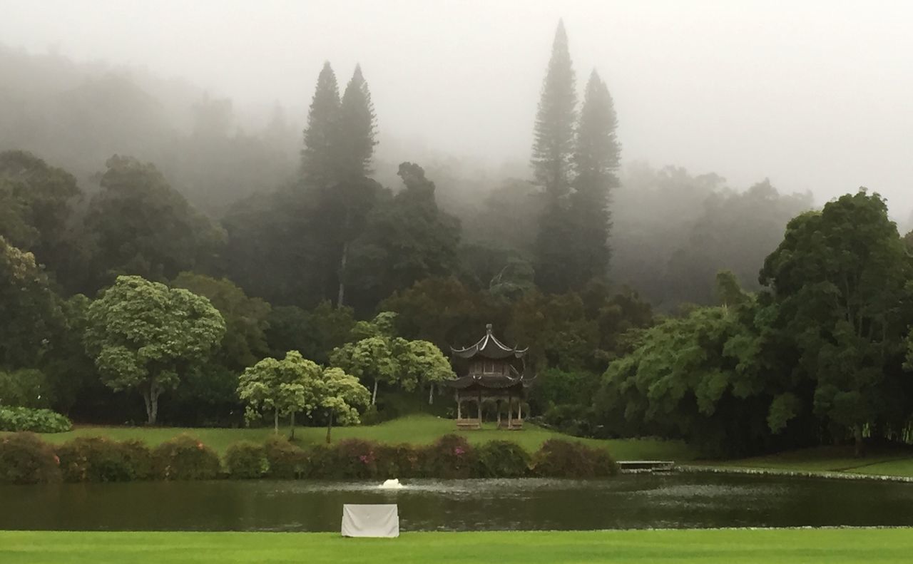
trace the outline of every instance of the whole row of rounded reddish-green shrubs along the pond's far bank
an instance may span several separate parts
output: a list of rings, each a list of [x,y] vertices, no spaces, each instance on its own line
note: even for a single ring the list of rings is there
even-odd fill
[[[603,449],[560,439],[530,455],[519,444],[492,441],[472,446],[448,434],[427,446],[378,444],[360,439],[303,450],[284,438],[228,448],[225,469],[218,454],[194,437],[181,435],[150,449],[140,441],[79,437],[54,448],[32,433],[0,440],[0,482],[34,484],[121,482],[144,479],[386,479],[591,478],[614,475],[617,465]]]

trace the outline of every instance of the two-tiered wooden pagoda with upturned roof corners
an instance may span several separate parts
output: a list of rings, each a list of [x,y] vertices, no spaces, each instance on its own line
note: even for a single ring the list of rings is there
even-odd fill
[[[482,402],[494,400],[498,404],[498,429],[522,429],[523,400],[533,381],[525,373],[527,349],[508,347],[492,334],[488,323],[485,337],[476,344],[462,349],[451,347],[450,350],[458,376],[446,384],[456,395],[456,428],[480,429]],[[463,402],[476,402],[476,417],[470,418],[463,412]],[[501,419],[502,402],[507,402],[508,406],[506,422]]]

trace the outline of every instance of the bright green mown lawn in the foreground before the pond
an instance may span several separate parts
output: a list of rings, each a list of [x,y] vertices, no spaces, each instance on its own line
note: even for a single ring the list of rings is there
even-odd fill
[[[909,562],[913,529],[724,529],[404,533],[0,532],[4,564],[403,564],[589,562],[848,564]]]

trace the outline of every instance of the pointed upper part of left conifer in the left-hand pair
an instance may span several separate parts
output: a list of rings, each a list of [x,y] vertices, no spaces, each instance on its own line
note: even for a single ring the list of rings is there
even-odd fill
[[[323,63],[317,88],[310,101],[308,128],[304,131],[301,172],[314,186],[336,181],[336,144],[340,113],[340,91],[329,62]]]

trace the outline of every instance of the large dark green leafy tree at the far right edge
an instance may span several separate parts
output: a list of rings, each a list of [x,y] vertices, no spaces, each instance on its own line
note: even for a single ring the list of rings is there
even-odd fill
[[[778,326],[815,381],[815,413],[850,431],[857,455],[864,427],[906,421],[899,367],[911,267],[885,201],[860,191],[793,219],[761,270],[780,309]]]

